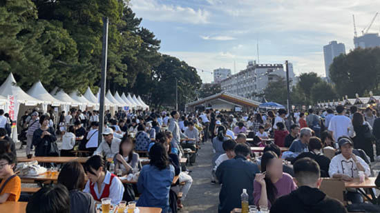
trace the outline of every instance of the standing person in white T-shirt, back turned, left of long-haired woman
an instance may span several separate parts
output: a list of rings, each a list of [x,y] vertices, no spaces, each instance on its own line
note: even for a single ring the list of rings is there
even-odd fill
[[[345,108],[343,105],[338,105],[336,107],[336,112],[338,115],[333,116],[330,119],[328,130],[332,132],[334,141],[338,141],[341,136],[354,137],[354,127],[352,126],[351,119],[345,116]]]

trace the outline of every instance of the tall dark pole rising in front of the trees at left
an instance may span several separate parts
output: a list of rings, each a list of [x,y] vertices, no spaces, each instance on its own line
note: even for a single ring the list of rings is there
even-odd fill
[[[97,136],[97,144],[100,144],[102,142],[102,132],[104,128],[104,95],[106,94],[107,49],[108,17],[103,17],[102,81],[100,82],[99,134]]]

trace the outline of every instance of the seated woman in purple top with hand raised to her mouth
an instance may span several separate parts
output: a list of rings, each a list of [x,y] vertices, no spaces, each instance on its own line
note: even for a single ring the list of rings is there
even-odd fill
[[[292,176],[283,172],[283,161],[272,151],[264,152],[261,173],[256,174],[254,181],[254,204],[270,208],[278,197],[294,190],[296,184]]]

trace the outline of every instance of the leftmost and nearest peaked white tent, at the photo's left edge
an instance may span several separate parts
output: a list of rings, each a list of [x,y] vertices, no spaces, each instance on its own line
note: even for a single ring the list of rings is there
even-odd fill
[[[10,73],[6,81],[0,86],[0,95],[8,99],[8,95],[15,95],[18,103],[25,103],[25,105],[37,105],[43,101],[31,97],[26,92],[16,85],[15,77]]]

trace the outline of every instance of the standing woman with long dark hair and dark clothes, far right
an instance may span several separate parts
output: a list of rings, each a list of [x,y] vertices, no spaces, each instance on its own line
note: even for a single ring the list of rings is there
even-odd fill
[[[352,126],[354,127],[355,136],[352,138],[354,141],[354,149],[364,150],[371,162],[374,161],[372,141],[375,141],[372,134],[371,125],[364,120],[363,114],[355,112],[352,116]]]

